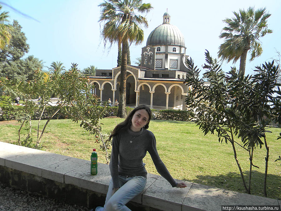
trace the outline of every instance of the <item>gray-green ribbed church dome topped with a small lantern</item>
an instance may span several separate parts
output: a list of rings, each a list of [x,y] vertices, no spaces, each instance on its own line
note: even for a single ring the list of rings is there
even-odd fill
[[[146,45],[177,45],[185,46],[183,34],[179,28],[170,24],[170,15],[165,13],[163,24],[156,27],[148,36]]]

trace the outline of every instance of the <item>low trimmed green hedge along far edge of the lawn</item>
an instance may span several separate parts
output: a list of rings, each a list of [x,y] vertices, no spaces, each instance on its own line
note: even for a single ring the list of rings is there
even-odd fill
[[[22,106],[2,106],[0,107],[0,121],[4,120],[13,120],[16,119],[15,113],[17,111],[22,110]],[[48,119],[56,110],[55,106],[48,106],[45,108],[45,111],[42,115],[42,119]],[[126,107],[126,113],[130,113],[134,108]],[[107,112],[103,116],[111,117],[117,116],[118,107],[107,107]],[[189,121],[190,120],[190,112],[189,111],[182,111],[182,110],[155,110],[152,109],[152,119],[163,119],[163,120],[177,120],[177,121]],[[41,113],[39,111],[35,112],[32,119],[39,119]],[[58,113],[52,119],[67,119],[68,113],[65,112],[64,109],[59,110]]]

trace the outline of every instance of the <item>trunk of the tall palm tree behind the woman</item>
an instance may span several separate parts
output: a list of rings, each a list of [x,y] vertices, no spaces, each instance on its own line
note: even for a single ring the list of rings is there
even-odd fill
[[[122,42],[122,60],[120,74],[119,107],[117,117],[126,118],[126,75],[127,75],[128,42]]]

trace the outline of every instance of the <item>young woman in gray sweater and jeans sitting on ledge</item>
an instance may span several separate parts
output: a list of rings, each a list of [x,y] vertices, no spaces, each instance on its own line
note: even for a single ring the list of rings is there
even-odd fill
[[[118,124],[110,135],[112,152],[110,159],[111,181],[104,207],[100,210],[130,210],[125,206],[132,198],[141,193],[146,185],[147,171],[142,159],[149,152],[160,175],[172,187],[185,188],[183,182],[175,182],[165,164],[160,159],[155,136],[148,129],[151,110],[145,105],[136,107]]]

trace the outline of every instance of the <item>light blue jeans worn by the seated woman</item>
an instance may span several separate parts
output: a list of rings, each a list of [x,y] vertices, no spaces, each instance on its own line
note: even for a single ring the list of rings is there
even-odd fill
[[[126,203],[140,194],[146,185],[146,178],[141,176],[126,177],[119,175],[120,188],[112,195],[113,183],[110,180],[104,207],[97,207],[96,211],[127,210]]]

